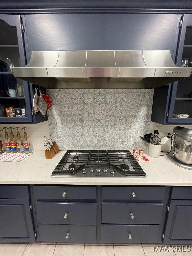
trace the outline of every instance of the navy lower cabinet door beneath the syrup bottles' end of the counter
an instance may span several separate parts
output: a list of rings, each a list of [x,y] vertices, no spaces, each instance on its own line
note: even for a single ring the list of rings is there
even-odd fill
[[[0,199],[1,242],[35,242],[28,199]]]

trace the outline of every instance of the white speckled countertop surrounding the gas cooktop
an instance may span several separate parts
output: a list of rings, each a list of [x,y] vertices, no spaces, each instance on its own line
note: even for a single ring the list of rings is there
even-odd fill
[[[175,165],[167,156],[153,158],[147,153],[149,162],[139,162],[146,178],[52,178],[51,173],[64,153],[60,151],[46,159],[44,151],[36,151],[21,162],[0,162],[0,184],[192,186],[191,170]]]

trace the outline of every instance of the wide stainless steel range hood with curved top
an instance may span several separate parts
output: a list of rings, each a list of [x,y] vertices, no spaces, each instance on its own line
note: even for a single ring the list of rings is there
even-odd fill
[[[155,88],[189,77],[192,68],[176,66],[165,50],[32,51],[27,66],[12,71],[46,88]]]

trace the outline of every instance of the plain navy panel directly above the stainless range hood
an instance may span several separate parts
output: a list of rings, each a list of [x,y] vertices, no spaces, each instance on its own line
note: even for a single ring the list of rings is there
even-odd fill
[[[180,17],[141,13],[25,15],[28,50],[175,51]]]

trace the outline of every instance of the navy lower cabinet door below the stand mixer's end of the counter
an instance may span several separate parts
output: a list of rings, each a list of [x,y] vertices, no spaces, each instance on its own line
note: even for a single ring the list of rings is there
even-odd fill
[[[164,243],[192,243],[192,201],[171,200]]]

